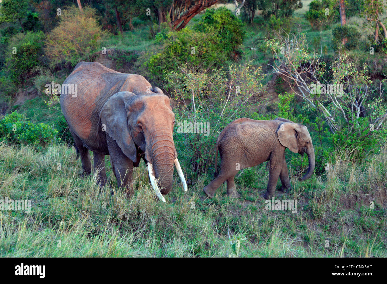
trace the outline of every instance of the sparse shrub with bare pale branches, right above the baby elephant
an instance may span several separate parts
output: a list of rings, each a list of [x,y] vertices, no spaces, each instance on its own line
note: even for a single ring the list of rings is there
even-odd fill
[[[319,111],[332,133],[346,128],[349,136],[353,134],[359,138],[386,126],[385,106],[379,100],[367,101],[372,88],[372,81],[366,75],[367,66],[358,68],[346,54],[339,54],[329,76],[323,76],[327,72],[325,62],[321,54],[308,52],[304,34],[288,33],[276,39],[265,39],[264,43],[273,53],[273,72],[281,75],[311,109]],[[330,81],[325,77],[331,78]],[[371,112],[370,123],[361,125],[365,108]]]

